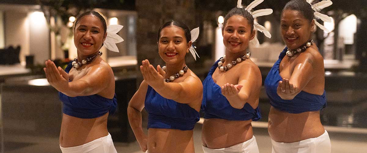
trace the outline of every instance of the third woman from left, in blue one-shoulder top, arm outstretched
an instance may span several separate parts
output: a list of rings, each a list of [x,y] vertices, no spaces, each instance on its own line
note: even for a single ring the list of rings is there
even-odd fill
[[[246,53],[256,32],[247,9],[251,10],[237,6],[226,15],[222,28],[226,55],[214,63],[203,81],[205,120],[201,136],[205,153],[259,152],[251,121],[261,118],[262,79],[258,66],[249,58],[251,54]]]

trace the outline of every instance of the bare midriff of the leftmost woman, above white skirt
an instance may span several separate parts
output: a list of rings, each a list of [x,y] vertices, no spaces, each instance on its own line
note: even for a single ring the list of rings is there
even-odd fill
[[[80,146],[107,136],[107,117],[108,113],[94,119],[81,119],[63,114],[60,145],[62,147]]]

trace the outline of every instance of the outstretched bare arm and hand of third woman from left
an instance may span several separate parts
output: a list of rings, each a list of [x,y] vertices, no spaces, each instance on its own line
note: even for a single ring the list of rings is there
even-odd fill
[[[222,86],[222,94],[233,108],[242,109],[248,98],[250,98],[251,93],[261,88],[259,73],[260,71],[257,67],[249,66],[246,72],[240,75],[237,85],[227,83]]]

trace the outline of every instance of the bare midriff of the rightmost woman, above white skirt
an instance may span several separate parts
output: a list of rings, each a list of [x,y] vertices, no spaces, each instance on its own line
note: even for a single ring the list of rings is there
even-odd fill
[[[291,143],[316,138],[324,134],[325,130],[320,121],[320,111],[293,114],[272,106],[268,132],[274,141]]]

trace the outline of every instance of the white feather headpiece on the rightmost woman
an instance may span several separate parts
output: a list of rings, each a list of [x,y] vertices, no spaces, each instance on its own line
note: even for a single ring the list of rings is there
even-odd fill
[[[331,4],[333,4],[333,2],[331,0],[323,0],[320,1],[319,3],[313,4],[312,2],[314,0],[307,0],[307,2],[311,5],[312,9],[315,11],[313,13],[313,15],[315,16],[316,19],[321,19],[324,22],[331,22],[331,18],[325,14],[321,14],[319,11],[321,11],[322,9],[331,6]],[[320,29],[325,30],[326,32],[330,32],[329,29],[325,28],[323,25],[321,25],[319,22],[316,21],[316,19],[313,19],[315,21],[315,24],[320,27]]]

